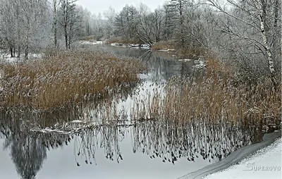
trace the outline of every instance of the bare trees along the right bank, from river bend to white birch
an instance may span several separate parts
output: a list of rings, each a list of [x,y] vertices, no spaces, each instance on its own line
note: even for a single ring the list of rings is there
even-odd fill
[[[113,34],[228,60],[248,80],[281,75],[279,0],[171,0],[154,11],[126,5]]]

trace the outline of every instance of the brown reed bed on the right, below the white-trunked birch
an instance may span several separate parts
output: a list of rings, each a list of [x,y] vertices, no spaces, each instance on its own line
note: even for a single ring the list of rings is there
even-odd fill
[[[230,69],[213,61],[197,78],[172,78],[164,94],[156,91],[146,107],[142,101],[135,104],[134,113],[140,118],[173,120],[176,125],[200,120],[281,125],[281,85],[274,87],[269,78],[254,84],[235,82]]]

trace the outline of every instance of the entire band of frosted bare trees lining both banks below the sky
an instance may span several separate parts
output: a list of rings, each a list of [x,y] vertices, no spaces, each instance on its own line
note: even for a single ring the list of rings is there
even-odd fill
[[[216,56],[247,78],[281,74],[280,0],[170,0],[151,11],[145,4],[87,11],[76,0],[0,0],[0,48],[11,56],[71,49],[79,37],[118,37],[184,54]]]

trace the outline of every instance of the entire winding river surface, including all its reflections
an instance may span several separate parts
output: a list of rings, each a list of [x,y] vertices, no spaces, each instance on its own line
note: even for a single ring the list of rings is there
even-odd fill
[[[61,111],[0,112],[0,178],[178,178],[251,144],[254,128],[192,121],[145,120],[133,111],[161,94],[193,61],[144,49],[84,46],[140,57],[148,67],[137,86],[99,102]],[[146,109],[149,110],[149,109]],[[146,111],[145,110],[145,111]],[[149,117],[149,116],[148,116]]]

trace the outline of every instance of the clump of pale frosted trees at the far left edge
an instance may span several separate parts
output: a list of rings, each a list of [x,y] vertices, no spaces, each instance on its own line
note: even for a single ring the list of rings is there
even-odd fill
[[[28,57],[30,50],[41,47],[48,25],[47,0],[1,1],[1,35],[6,40],[11,56],[22,53]]]

